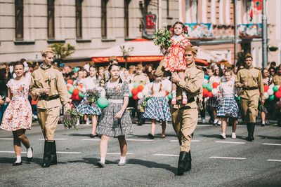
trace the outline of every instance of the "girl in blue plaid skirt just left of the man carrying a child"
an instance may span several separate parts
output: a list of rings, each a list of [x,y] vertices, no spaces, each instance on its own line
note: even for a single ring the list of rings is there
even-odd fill
[[[151,133],[148,134],[150,139],[155,137],[155,121],[162,121],[162,134],[161,137],[165,137],[166,131],[166,121],[171,119],[170,107],[168,104],[168,99],[166,98],[166,91],[171,92],[171,81],[165,81],[162,83],[161,77],[154,75],[155,81],[145,85],[143,89],[143,95],[148,99],[147,107],[145,113],[143,113],[143,118],[151,119]]]

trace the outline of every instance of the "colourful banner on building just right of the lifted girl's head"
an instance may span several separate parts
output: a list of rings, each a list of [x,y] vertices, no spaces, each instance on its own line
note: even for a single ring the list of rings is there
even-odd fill
[[[185,23],[188,27],[188,38],[212,38],[213,25],[211,23]]]

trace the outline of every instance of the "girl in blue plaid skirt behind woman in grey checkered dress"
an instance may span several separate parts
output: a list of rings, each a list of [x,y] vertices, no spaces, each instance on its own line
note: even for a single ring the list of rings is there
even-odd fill
[[[81,92],[86,92],[87,90],[98,88],[98,85],[100,83],[100,79],[98,79],[96,67],[91,66],[89,68],[89,74],[87,78],[84,78],[83,80],[83,88],[81,89]],[[84,115],[91,115],[92,117],[92,132],[90,134],[90,137],[96,137],[96,126],[97,126],[97,117],[96,115],[100,115],[101,110],[98,108],[97,104],[91,104],[87,102],[87,95],[84,97],[84,99],[81,101],[79,106],[77,106],[77,110]],[[86,124],[89,123],[89,118],[86,119]]]

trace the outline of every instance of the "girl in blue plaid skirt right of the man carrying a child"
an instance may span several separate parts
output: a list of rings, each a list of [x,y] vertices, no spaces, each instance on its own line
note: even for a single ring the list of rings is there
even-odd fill
[[[235,89],[235,82],[231,80],[232,71],[230,69],[226,70],[224,74],[226,78],[226,82],[221,83],[218,86],[218,90],[221,92],[223,99],[221,100],[221,104],[218,106],[218,111],[216,113],[217,117],[220,117],[222,120],[221,130],[222,134],[220,134],[221,139],[226,139],[226,121],[227,118],[233,118],[230,120],[234,122],[233,125],[233,134],[232,138],[236,138],[235,130],[237,124],[238,117],[238,105],[235,99],[235,94],[237,90]]]

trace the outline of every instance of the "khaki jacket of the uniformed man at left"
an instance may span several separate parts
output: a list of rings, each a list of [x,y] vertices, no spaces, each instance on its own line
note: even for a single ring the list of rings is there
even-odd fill
[[[50,77],[50,81],[46,81],[48,76]],[[44,88],[50,89],[49,95],[44,94]],[[34,96],[39,97],[38,109],[51,109],[61,106],[61,103],[65,105],[70,102],[63,74],[53,66],[46,67],[46,69],[40,66],[39,69],[33,71],[30,90]],[[46,99],[57,95],[59,96],[57,99]]]

